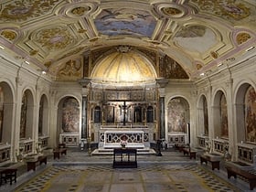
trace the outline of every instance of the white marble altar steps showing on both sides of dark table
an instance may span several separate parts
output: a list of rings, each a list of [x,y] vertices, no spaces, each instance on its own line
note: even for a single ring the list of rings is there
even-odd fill
[[[138,148],[137,155],[155,155],[155,150],[151,148]],[[98,148],[95,149],[91,155],[113,155],[113,149],[111,148]]]

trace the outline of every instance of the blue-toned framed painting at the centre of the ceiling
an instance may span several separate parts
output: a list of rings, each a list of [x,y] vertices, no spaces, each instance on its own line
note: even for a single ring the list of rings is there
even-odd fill
[[[101,35],[152,37],[156,21],[147,11],[131,8],[109,8],[95,18],[95,26]]]

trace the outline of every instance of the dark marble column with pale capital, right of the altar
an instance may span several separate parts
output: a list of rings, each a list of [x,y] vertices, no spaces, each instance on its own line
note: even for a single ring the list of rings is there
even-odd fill
[[[168,80],[161,78],[156,80],[159,85],[159,137],[165,139],[165,86],[168,84]]]

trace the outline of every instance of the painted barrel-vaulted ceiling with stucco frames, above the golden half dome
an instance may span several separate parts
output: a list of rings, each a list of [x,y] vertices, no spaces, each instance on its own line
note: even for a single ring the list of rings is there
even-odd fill
[[[197,80],[255,56],[255,44],[255,0],[2,0],[0,5],[2,57],[29,62],[55,80],[95,75],[98,61],[120,47],[154,63],[156,77]]]

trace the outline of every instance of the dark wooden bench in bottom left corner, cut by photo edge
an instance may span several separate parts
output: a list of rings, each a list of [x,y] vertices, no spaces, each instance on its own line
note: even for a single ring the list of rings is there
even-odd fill
[[[9,167],[0,167],[0,186],[3,185],[3,181],[5,183],[10,181],[10,185],[13,184],[13,182],[16,183],[16,168],[9,168]]]

